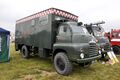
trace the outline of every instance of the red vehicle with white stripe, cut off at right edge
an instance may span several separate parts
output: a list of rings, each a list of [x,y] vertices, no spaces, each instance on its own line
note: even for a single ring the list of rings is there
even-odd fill
[[[113,51],[115,54],[120,54],[120,29],[112,29],[111,32],[107,34]]]

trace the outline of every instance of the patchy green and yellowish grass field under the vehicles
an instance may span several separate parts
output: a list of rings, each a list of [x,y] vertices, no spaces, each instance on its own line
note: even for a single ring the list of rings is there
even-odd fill
[[[56,73],[50,59],[23,59],[19,53],[11,44],[10,62],[0,63],[0,80],[120,80],[120,63],[112,66],[96,62],[89,68],[74,65],[72,74],[62,76]]]

